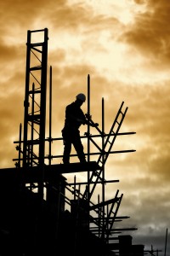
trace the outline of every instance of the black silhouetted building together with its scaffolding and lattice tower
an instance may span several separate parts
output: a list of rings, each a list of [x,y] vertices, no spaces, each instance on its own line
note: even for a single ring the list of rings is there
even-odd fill
[[[19,140],[14,142],[18,158],[14,159],[14,168],[0,170],[0,256],[143,256],[144,245],[133,245],[132,236],[122,235],[124,230],[135,229],[115,228],[117,222],[128,218],[118,214],[123,195],[117,190],[111,199],[105,200],[107,184],[118,182],[105,178],[109,155],[135,151],[113,150],[116,138],[135,134],[120,132],[127,113],[124,102],[113,119],[111,130],[105,133],[102,99],[101,129],[95,127],[96,133],[92,135],[88,125],[83,136],[87,142],[87,163],[53,164],[53,160],[62,155],[52,155],[52,143],[57,145],[63,138],[53,138],[51,134],[52,67],[49,82],[47,73],[48,29],[28,31],[24,125],[20,125]],[[89,75],[87,84],[88,121],[94,124],[90,114]],[[79,172],[85,174],[84,182],[77,181]],[[72,182],[65,177],[68,173],[72,175]]]

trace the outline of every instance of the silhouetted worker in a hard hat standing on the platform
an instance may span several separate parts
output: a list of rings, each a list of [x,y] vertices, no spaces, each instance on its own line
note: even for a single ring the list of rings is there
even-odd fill
[[[86,119],[86,116],[81,109],[82,103],[85,101],[86,96],[83,93],[79,93],[76,96],[76,101],[65,108],[65,126],[62,130],[62,137],[65,145],[63,155],[64,164],[70,163],[71,144],[73,144],[76,149],[80,162],[86,162],[79,131],[81,125],[88,125],[88,119]],[[96,123],[91,126],[98,126],[98,124]]]

